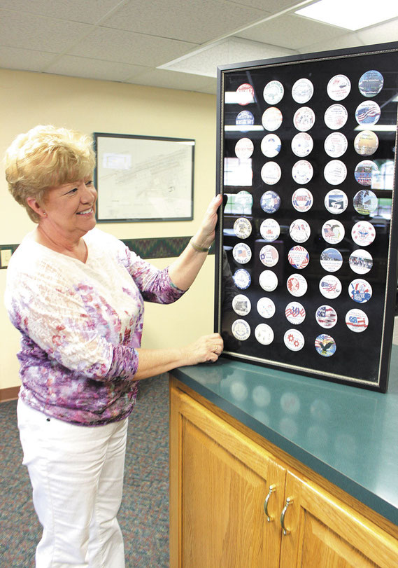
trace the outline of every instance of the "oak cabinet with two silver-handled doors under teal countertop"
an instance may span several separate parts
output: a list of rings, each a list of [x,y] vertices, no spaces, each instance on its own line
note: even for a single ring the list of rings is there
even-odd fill
[[[398,566],[394,536],[192,396],[170,395],[171,568]]]

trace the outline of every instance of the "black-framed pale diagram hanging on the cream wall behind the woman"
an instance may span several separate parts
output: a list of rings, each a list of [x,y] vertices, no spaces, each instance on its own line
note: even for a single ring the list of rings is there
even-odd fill
[[[94,132],[97,220],[193,219],[193,139]]]

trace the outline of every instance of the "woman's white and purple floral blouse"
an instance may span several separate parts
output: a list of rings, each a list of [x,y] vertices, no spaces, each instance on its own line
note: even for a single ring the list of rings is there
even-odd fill
[[[87,262],[27,235],[7,269],[6,308],[21,333],[20,398],[50,417],[94,426],[127,417],[136,401],[143,300],[183,291],[115,237],[83,237]]]

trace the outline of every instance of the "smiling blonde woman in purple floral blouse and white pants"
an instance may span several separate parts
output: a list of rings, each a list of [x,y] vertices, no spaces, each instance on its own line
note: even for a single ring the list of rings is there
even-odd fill
[[[94,228],[94,162],[90,137],[52,126],[20,134],[6,153],[10,192],[37,223],[8,265],[6,307],[21,333],[18,427],[43,525],[38,568],[125,565],[116,515],[138,381],[222,351],[218,333],[141,349],[143,300],[171,303],[190,287],[221,198],[157,270]]]

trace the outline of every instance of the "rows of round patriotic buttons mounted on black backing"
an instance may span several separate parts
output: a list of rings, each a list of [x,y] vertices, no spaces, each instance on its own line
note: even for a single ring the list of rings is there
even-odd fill
[[[378,95],[383,88],[384,79],[381,73],[376,70],[370,70],[364,73],[358,83],[360,93],[365,100],[357,105],[355,110],[355,120],[359,125],[369,127],[375,125],[381,117],[380,106],[371,100],[372,97]],[[347,176],[346,164],[339,160],[348,149],[348,140],[346,136],[339,132],[348,120],[348,111],[341,101],[348,97],[351,90],[350,79],[339,74],[332,77],[327,84],[327,95],[334,101],[325,111],[323,120],[329,130],[333,130],[325,139],[325,153],[332,158],[324,168],[323,175],[330,186],[339,186],[345,181]],[[245,83],[241,85],[237,92],[239,93],[239,104],[246,105],[255,101],[255,92],[251,85]],[[300,186],[292,195],[292,207],[299,213],[308,212],[313,206],[313,195],[306,188],[306,184],[313,178],[313,165],[306,160],[308,155],[313,151],[313,138],[308,133],[314,126],[316,116],[310,106],[306,106],[313,97],[313,83],[307,78],[301,78],[292,86],[292,98],[295,102],[302,104],[294,113],[293,124],[299,132],[292,138],[292,152],[299,160],[292,167],[292,179]],[[282,148],[282,141],[275,131],[278,130],[283,123],[283,113],[278,109],[277,105],[285,95],[285,88],[280,81],[269,81],[264,87],[263,97],[269,106],[262,114],[262,126],[267,134],[261,141],[261,151],[266,158],[276,158]],[[250,111],[241,111],[236,116],[236,125],[239,125],[241,132],[247,132],[245,127],[253,125],[255,118]],[[357,163],[355,167],[355,180],[362,188],[355,193],[353,197],[353,207],[355,211],[367,216],[374,213],[378,207],[378,199],[373,191],[369,188],[372,183],[372,177],[377,172],[378,167],[375,162],[369,159],[378,148],[378,137],[371,130],[361,130],[354,140],[355,152],[362,158],[366,158]],[[253,154],[254,144],[247,137],[239,139],[235,146],[236,157],[247,159]],[[282,175],[282,171],[278,162],[269,160],[261,169],[261,178],[267,186],[273,186]],[[246,200],[248,205],[253,205],[253,197],[246,191],[238,194],[245,194],[242,198]],[[246,195],[247,194],[247,195]],[[332,188],[325,195],[325,209],[337,216],[343,213],[348,207],[348,196],[339,188]],[[281,199],[276,191],[267,190],[260,199],[260,207],[267,215],[273,215],[280,208]],[[239,264],[246,264],[252,258],[252,251],[248,244],[244,242],[253,232],[252,224],[246,217],[239,217],[234,223],[234,235],[240,239],[238,244],[234,246],[232,254],[234,260]],[[332,300],[340,296],[342,285],[338,277],[330,272],[336,272],[343,264],[341,252],[334,248],[346,236],[346,231],[338,219],[333,217],[322,225],[322,237],[330,247],[325,248],[320,254],[320,265],[324,270],[329,272],[320,279],[319,290],[322,296],[327,300]],[[278,240],[280,236],[280,225],[276,219],[266,217],[260,225],[260,234],[262,239],[267,243]],[[310,255],[303,246],[311,236],[311,226],[305,219],[295,219],[290,224],[289,234],[291,239],[297,243],[290,248],[287,254],[287,260],[295,270],[302,270],[310,263]],[[369,221],[357,221],[351,230],[351,238],[355,244],[360,247],[367,247],[376,238],[376,230]],[[260,274],[259,284],[261,288],[271,293],[278,286],[278,277],[273,268],[279,261],[279,254],[273,244],[266,244],[260,251],[260,261],[265,269]],[[365,275],[373,266],[373,258],[371,254],[364,249],[353,251],[348,260],[350,269],[357,275]],[[234,284],[240,290],[246,290],[251,284],[250,272],[245,268],[239,268],[234,273]],[[294,296],[300,298],[305,296],[308,290],[306,278],[299,272],[294,272],[287,278],[287,291]],[[357,277],[350,282],[348,286],[348,294],[356,303],[367,303],[372,296],[371,285],[362,277]],[[234,312],[241,317],[245,317],[252,310],[250,299],[243,293],[239,293],[232,300]],[[257,302],[257,312],[264,319],[273,317],[276,312],[275,303],[271,298],[262,297]],[[293,326],[298,326],[306,318],[306,310],[298,301],[292,301],[285,307],[285,317]],[[337,312],[331,305],[325,303],[315,310],[315,319],[319,326],[324,329],[333,328],[337,323]],[[355,333],[365,331],[369,325],[367,314],[360,309],[352,308],[348,310],[345,316],[346,326]],[[232,333],[238,340],[247,340],[250,336],[251,329],[248,321],[239,318],[232,324]],[[262,345],[269,345],[273,342],[274,333],[271,326],[262,323],[255,327],[255,338]],[[304,347],[304,335],[297,327],[290,328],[284,335],[285,346],[292,351],[299,351]],[[336,352],[336,342],[328,333],[320,333],[315,338],[315,349],[322,356],[332,356]]]

